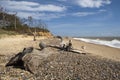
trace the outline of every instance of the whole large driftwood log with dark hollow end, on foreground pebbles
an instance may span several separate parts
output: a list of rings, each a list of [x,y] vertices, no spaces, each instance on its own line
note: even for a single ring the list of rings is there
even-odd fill
[[[25,69],[33,74],[38,72],[39,66],[43,63],[46,54],[53,53],[49,48],[43,50],[33,49],[33,47],[24,48],[6,64],[6,67],[13,66]]]

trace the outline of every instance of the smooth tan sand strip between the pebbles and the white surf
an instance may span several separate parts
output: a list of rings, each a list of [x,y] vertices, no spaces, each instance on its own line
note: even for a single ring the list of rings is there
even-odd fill
[[[80,40],[73,40],[74,47],[78,50],[83,50],[81,47],[85,46],[85,52],[91,53],[93,56],[97,55],[103,58],[120,61],[120,49],[114,48],[106,45],[93,44],[89,42],[84,42]]]

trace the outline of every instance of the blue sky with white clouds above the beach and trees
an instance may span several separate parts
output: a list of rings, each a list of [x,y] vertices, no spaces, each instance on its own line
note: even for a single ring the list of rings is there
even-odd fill
[[[0,6],[42,20],[54,35],[120,36],[120,0],[0,0]]]

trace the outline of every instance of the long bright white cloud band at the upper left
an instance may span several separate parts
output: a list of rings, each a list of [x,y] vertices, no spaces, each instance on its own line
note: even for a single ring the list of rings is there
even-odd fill
[[[24,11],[48,11],[48,12],[63,12],[66,10],[65,6],[58,6],[53,4],[39,4],[29,1],[0,1],[0,5],[9,10],[24,10]]]

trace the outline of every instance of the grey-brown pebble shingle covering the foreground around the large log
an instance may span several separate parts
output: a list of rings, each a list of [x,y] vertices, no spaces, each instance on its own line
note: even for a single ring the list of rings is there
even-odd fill
[[[57,50],[56,50],[57,51]],[[2,56],[3,57],[3,56]],[[8,58],[4,58],[8,59]],[[3,62],[2,62],[2,61]],[[120,80],[120,62],[97,56],[56,53],[46,58],[37,76],[22,69],[0,65],[1,80]],[[0,56],[0,62],[6,63]],[[5,71],[5,72],[4,72]]]

